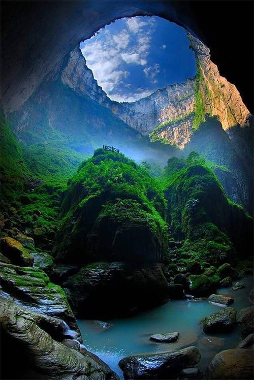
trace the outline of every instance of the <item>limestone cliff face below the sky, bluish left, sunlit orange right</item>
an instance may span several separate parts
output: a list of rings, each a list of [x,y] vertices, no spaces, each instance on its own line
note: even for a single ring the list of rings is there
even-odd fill
[[[142,135],[150,135],[153,141],[167,140],[184,148],[190,141],[193,126],[197,128],[204,121],[205,114],[217,116],[227,132],[236,124],[244,125],[250,116],[236,87],[219,75],[217,66],[210,60],[209,49],[198,39],[192,36],[189,39],[195,51],[199,76],[158,89],[133,103],[111,101],[94,79],[79,49],[71,53],[61,80],[76,92],[109,108]]]

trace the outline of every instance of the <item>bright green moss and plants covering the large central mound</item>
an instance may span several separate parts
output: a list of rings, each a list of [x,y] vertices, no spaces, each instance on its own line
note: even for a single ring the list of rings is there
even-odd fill
[[[153,236],[154,244],[162,246],[160,249],[165,253],[168,239],[165,209],[162,187],[149,175],[146,166],[137,165],[123,154],[98,149],[69,181],[54,252],[71,252],[79,245],[84,252],[80,260],[85,263],[91,249],[86,242],[87,234],[97,233],[101,239],[111,239],[115,228],[126,233],[139,226],[140,233]],[[110,248],[106,248],[105,242],[101,260],[107,249]]]

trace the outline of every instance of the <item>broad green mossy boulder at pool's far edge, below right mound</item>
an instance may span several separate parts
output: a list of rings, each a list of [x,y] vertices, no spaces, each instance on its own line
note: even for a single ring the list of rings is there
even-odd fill
[[[188,276],[188,291],[196,297],[210,296],[216,292],[218,282],[217,276],[208,277],[205,274],[192,274]]]

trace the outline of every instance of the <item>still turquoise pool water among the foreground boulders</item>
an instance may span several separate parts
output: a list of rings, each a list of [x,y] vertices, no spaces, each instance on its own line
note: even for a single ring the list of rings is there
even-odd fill
[[[247,297],[253,286],[252,277],[240,280],[245,288],[232,291],[231,288],[220,289],[234,298],[232,305],[237,310],[250,306]],[[195,345],[201,351],[199,368],[205,370],[217,352],[235,347],[241,340],[240,328],[233,333],[216,334],[209,337],[203,333],[200,320],[218,311],[222,306],[205,301],[176,300],[148,310],[131,318],[107,320],[113,325],[105,330],[88,320],[78,320],[85,347],[98,355],[122,379],[118,362],[125,356],[140,353],[173,351],[188,345]],[[155,343],[150,335],[179,331],[179,340],[175,343]]]

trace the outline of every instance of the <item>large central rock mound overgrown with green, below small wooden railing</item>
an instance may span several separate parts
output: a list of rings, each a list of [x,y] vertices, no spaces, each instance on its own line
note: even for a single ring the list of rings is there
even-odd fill
[[[69,181],[53,254],[58,262],[163,262],[165,199],[144,166],[97,149]]]

